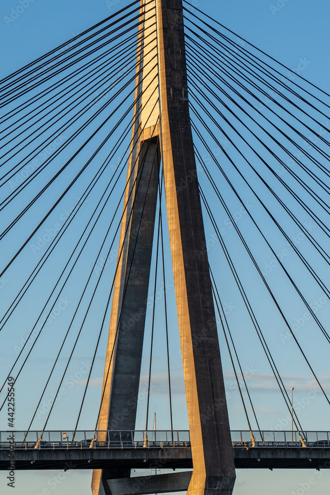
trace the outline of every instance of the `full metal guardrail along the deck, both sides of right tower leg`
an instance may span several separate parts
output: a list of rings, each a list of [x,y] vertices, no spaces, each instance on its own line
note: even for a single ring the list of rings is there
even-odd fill
[[[13,437],[9,437],[12,436]],[[330,432],[316,431],[231,431],[233,447],[330,448]],[[0,432],[0,449],[85,449],[85,448],[178,448],[190,447],[188,430],[164,431],[5,431]]]

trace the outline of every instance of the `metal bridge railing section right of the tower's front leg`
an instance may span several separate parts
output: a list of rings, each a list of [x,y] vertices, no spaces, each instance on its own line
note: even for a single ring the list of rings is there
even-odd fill
[[[234,447],[321,447],[330,448],[327,431],[231,431]]]

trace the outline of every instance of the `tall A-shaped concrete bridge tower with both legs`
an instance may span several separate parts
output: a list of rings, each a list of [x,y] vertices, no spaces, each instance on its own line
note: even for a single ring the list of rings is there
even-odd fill
[[[231,495],[235,466],[189,119],[182,0],[141,0],[140,22],[138,118],[132,131],[98,430],[135,429],[162,160],[193,472],[191,479],[191,473],[152,478],[159,476],[158,493],[187,490],[189,484],[189,495]],[[113,490],[116,480],[127,487],[121,495],[140,493],[130,485],[130,470],[120,468],[94,470],[93,494],[119,494]],[[155,480],[150,490],[148,483],[142,490],[155,493]]]

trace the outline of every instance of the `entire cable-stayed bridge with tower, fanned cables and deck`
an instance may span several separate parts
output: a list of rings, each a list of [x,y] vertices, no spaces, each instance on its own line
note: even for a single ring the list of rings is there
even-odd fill
[[[293,74],[188,2],[146,0],[1,81],[3,342],[25,328],[4,360],[4,469],[9,450],[17,469],[94,468],[94,494],[231,494],[236,467],[329,467],[300,414],[330,405],[329,95]],[[252,353],[287,431],[263,426]],[[193,471],[135,490],[143,465]]]

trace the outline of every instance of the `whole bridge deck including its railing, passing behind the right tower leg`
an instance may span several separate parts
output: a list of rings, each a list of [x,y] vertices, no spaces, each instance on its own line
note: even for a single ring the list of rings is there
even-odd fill
[[[0,432],[0,469],[191,469],[189,432]],[[236,468],[327,469],[327,432],[232,432]],[[71,438],[71,441],[69,441]],[[75,438],[84,438],[76,441]],[[106,440],[107,439],[107,440]],[[136,440],[137,439],[137,440]],[[173,440],[172,440],[173,439]],[[293,440],[293,441],[292,441]]]

